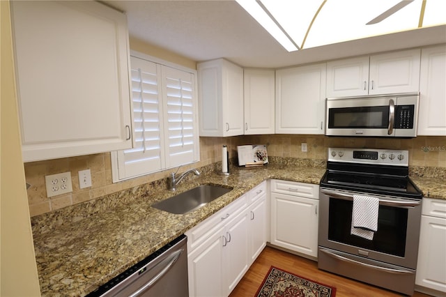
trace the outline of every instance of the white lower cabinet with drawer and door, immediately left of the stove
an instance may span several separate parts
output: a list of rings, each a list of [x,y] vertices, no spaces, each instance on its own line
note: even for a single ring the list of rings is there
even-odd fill
[[[271,181],[271,240],[287,250],[317,257],[318,185]]]

